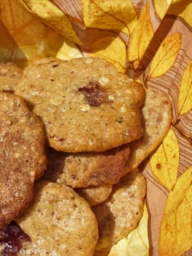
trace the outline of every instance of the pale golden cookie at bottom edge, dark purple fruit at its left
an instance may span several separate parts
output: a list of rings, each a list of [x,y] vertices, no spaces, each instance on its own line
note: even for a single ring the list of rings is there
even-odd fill
[[[35,186],[34,202],[16,222],[31,238],[18,255],[93,255],[96,217],[73,189],[47,181]]]

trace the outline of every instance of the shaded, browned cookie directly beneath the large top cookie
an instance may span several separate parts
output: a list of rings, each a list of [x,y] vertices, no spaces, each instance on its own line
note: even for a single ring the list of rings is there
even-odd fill
[[[104,152],[74,154],[49,148],[45,178],[74,188],[115,184],[123,175],[128,154],[128,145]]]

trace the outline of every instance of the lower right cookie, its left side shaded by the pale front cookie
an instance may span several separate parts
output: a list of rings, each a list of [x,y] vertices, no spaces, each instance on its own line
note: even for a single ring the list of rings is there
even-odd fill
[[[109,251],[113,244],[137,227],[142,217],[145,194],[145,178],[134,170],[113,186],[106,202],[93,206],[99,225],[96,251]]]

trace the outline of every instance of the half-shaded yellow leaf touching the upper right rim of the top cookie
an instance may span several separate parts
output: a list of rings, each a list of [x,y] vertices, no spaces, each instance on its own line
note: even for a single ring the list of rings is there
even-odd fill
[[[95,42],[92,49],[93,53],[88,56],[104,57],[112,62],[119,72],[126,71],[126,45],[119,37],[102,37]]]

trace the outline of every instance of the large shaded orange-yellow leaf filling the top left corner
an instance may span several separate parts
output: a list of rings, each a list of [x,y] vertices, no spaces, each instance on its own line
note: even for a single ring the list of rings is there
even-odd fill
[[[18,1],[1,0],[0,8],[4,10],[0,14],[4,27],[15,42],[7,60],[20,61],[55,56],[63,45],[64,36],[34,18]],[[10,42],[7,42],[7,45]]]

